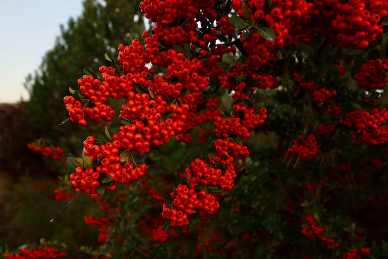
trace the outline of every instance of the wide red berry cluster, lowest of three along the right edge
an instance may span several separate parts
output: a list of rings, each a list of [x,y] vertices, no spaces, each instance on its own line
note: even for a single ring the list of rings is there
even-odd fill
[[[339,122],[347,127],[356,128],[352,138],[362,144],[381,144],[388,140],[388,128],[382,126],[388,120],[387,109],[373,108],[372,113],[363,110],[355,110],[340,118]]]

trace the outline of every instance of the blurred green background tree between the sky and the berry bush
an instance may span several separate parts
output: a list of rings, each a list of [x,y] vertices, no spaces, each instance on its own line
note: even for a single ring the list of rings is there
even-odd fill
[[[26,114],[38,136],[56,139],[65,149],[72,148],[75,142],[69,136],[74,133],[74,125],[58,126],[68,117],[63,97],[69,87],[75,88],[84,68],[97,71],[97,64],[107,63],[105,52],[117,53],[119,43],[128,42],[130,36],[138,37],[144,30],[139,3],[140,0],[85,0],[81,17],[70,18],[67,27],[61,25],[54,48],[45,55],[39,69],[26,78],[25,87],[30,94]],[[66,140],[62,138],[65,132]]]

